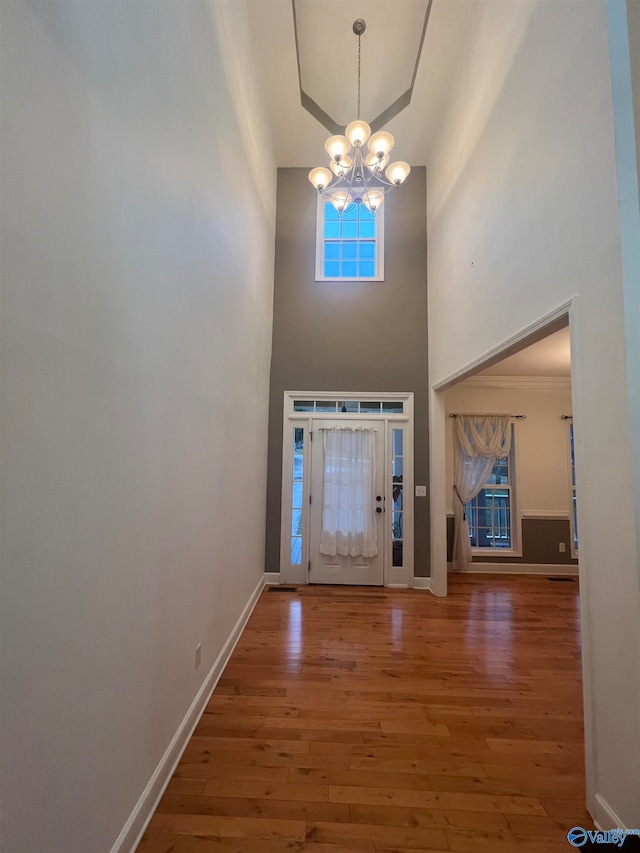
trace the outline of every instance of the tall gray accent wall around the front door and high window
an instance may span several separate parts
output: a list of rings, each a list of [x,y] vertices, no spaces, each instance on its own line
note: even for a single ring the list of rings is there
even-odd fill
[[[428,483],[426,175],[385,200],[385,280],[316,282],[307,169],[279,169],[266,571],[280,570],[285,391],[413,391],[415,482]],[[415,499],[415,574],[429,575],[428,498]]]

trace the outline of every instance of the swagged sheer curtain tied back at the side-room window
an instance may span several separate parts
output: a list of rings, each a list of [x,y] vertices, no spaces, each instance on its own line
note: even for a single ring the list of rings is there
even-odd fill
[[[508,415],[457,415],[453,486],[453,567],[471,563],[469,524],[465,504],[485,486],[496,459],[511,449],[511,419]]]

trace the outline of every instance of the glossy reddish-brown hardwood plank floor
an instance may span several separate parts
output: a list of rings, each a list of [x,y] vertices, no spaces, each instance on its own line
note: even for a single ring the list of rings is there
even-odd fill
[[[265,590],[138,853],[566,853],[584,800],[577,580]]]

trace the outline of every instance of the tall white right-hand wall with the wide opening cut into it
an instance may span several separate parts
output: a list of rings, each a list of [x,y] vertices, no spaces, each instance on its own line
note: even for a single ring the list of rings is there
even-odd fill
[[[635,826],[640,591],[603,2],[479,3],[427,182],[432,384],[577,297],[588,798],[603,823]],[[445,442],[436,436],[432,497],[442,529]],[[436,541],[440,572],[442,535]]]

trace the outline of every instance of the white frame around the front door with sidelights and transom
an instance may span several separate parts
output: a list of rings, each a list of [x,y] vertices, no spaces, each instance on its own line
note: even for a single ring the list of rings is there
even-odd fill
[[[283,409],[282,430],[282,490],[281,490],[281,521],[280,521],[280,582],[308,584],[309,583],[309,534],[310,534],[310,512],[309,495],[311,489],[310,461],[311,461],[311,423],[314,420],[335,420],[340,413],[336,412],[294,412],[294,400],[361,400],[364,402],[392,402],[402,401],[403,413],[390,414],[381,413],[345,413],[345,419],[357,418],[362,421],[379,423],[384,425],[385,430],[385,458],[387,457],[391,443],[391,429],[393,424],[402,425],[405,430],[403,485],[405,494],[405,516],[403,529],[403,565],[392,566],[392,544],[391,537],[385,536],[385,554],[383,560],[383,584],[384,586],[407,586],[414,584],[414,394],[410,391],[379,391],[379,392],[354,392],[354,391],[285,391]],[[303,453],[307,460],[303,468],[303,517],[302,517],[302,556],[301,563],[292,564],[291,553],[291,483],[293,482],[293,429],[303,427],[305,429]],[[385,492],[391,494],[392,477],[391,467],[386,464],[385,468]]]

